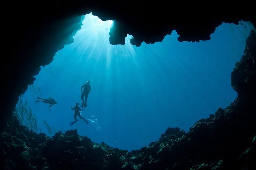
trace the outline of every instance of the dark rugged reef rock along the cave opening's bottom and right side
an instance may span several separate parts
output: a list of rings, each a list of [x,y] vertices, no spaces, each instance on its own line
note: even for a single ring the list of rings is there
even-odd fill
[[[238,97],[198,120],[188,132],[168,128],[140,150],[97,144],[76,130],[52,138],[21,126],[10,114],[1,131],[1,169],[229,170],[256,169],[256,31],[231,74]]]

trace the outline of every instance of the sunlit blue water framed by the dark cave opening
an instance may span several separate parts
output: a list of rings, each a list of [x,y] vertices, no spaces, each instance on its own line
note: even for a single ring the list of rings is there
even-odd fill
[[[178,42],[173,31],[163,42],[135,47],[128,35],[125,45],[113,46],[108,41],[112,22],[86,15],[74,43],[41,67],[24,99],[49,136],[77,129],[96,143],[139,149],[157,141],[168,127],[188,131],[195,121],[236,98],[230,74],[252,29],[250,23],[242,23],[223,23],[211,40],[199,43]],[[74,121],[70,107],[76,102],[81,106],[80,90],[87,80],[92,90],[82,116],[90,124],[77,117],[79,121],[70,126]],[[45,103],[35,103],[38,96],[52,97],[58,104],[48,109]]]

